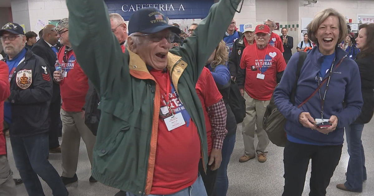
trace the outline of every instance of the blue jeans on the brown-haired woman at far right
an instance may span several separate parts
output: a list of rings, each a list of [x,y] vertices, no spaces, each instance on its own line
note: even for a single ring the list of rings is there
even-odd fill
[[[353,123],[346,129],[349,162],[347,168],[347,189],[362,191],[362,183],[367,179],[365,167],[365,153],[361,135],[364,124]]]

